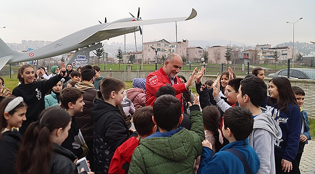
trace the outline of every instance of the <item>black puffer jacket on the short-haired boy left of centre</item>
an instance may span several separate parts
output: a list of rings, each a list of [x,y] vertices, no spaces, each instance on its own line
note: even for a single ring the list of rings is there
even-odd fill
[[[120,110],[103,101],[102,94],[97,93],[91,108],[91,116],[95,121],[93,129],[93,153],[95,174],[107,174],[110,160],[118,146],[122,145],[132,135],[126,125]]]

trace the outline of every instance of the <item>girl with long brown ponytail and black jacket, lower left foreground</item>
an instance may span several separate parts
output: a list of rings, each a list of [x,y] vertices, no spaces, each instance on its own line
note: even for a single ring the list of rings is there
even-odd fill
[[[70,127],[71,117],[64,109],[50,107],[44,110],[25,132],[16,162],[17,173],[78,174],[74,163],[77,157],[60,146]]]

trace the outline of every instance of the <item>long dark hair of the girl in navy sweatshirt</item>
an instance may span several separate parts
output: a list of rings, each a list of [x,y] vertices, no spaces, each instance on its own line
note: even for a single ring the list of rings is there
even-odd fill
[[[270,105],[280,106],[280,111],[283,111],[284,113],[286,113],[288,109],[291,109],[288,108],[290,103],[298,105],[297,99],[295,98],[291,83],[288,78],[277,76],[270,79],[269,83],[270,82],[272,82],[278,88],[279,92],[279,101],[270,97],[268,99]]]

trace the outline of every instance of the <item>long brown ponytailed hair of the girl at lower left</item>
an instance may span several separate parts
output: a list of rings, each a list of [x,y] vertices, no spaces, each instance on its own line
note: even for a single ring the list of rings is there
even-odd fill
[[[32,122],[24,134],[16,161],[19,174],[49,174],[49,164],[54,147],[50,139],[52,131],[68,126],[69,114],[60,107],[49,107],[42,111],[38,121]]]

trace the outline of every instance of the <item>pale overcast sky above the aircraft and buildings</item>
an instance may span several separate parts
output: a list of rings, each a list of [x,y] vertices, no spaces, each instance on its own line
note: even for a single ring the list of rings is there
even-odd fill
[[[177,22],[178,41],[226,40],[246,45],[315,41],[315,0],[1,0],[0,38],[6,43],[21,40],[55,41],[80,29],[97,25],[98,20],[111,22],[137,16],[142,19],[188,16],[191,9],[197,16]],[[136,32],[141,44],[140,32]],[[159,39],[175,41],[175,24],[143,26],[143,41]],[[122,42],[124,36],[108,43]],[[126,43],[135,43],[134,34]],[[198,45],[189,45],[198,46]],[[212,45],[209,45],[212,46]]]

